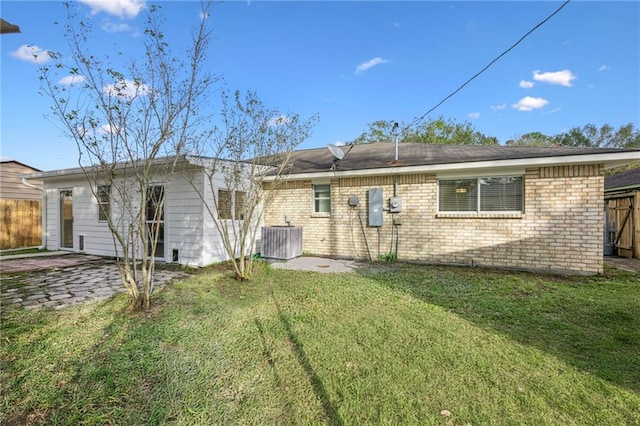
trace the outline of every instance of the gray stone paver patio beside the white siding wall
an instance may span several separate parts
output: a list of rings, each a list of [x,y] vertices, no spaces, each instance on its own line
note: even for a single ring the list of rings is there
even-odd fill
[[[36,267],[28,273],[7,273],[3,262],[0,308],[3,311],[19,307],[60,309],[77,303],[105,299],[125,291],[113,260],[80,256],[86,262],[75,259],[75,262],[71,263],[71,257],[63,257],[65,262],[62,267]],[[29,259],[31,262],[37,260]],[[47,259],[43,264],[51,265],[50,260],[52,259]],[[34,267],[33,263],[31,267]],[[173,279],[186,276],[188,274],[184,272],[156,270],[156,288]]]

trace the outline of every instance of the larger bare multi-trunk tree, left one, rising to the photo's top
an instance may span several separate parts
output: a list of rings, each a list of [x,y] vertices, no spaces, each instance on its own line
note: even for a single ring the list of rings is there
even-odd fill
[[[148,309],[164,232],[165,185],[199,137],[207,118],[201,111],[216,81],[205,69],[211,5],[202,4],[190,45],[179,53],[165,39],[160,6],[150,6],[138,59],[123,52],[94,56],[91,22],[78,20],[74,3],[65,5],[69,51],[41,58],[41,92],[77,145],[79,165],[113,236],[131,306]]]

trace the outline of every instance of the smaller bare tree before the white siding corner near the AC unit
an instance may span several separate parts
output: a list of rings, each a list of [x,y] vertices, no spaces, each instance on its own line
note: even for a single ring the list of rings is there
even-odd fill
[[[267,108],[254,92],[223,93],[221,124],[200,140],[204,185],[191,180],[215,224],[238,280],[247,280],[253,249],[272,189],[286,178],[293,149],[310,134],[316,117],[301,120]],[[269,180],[267,181],[267,177]]]

